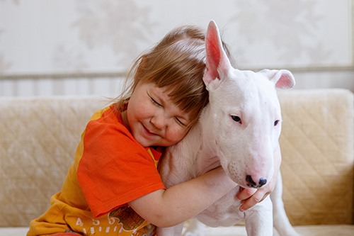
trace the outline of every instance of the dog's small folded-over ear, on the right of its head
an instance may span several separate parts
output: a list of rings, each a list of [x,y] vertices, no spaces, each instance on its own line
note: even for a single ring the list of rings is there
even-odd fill
[[[278,89],[291,89],[295,86],[294,76],[286,69],[263,69],[261,73],[266,74]]]

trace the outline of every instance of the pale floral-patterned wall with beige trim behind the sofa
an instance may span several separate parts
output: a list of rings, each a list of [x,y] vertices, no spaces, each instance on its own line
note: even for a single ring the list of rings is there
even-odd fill
[[[240,69],[354,91],[353,0],[0,0],[0,96],[115,96],[132,60],[214,19]]]

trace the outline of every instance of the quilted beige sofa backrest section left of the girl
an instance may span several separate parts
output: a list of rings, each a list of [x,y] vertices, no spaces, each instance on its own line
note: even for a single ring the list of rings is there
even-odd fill
[[[0,99],[0,227],[28,226],[62,189],[81,133],[108,101]]]

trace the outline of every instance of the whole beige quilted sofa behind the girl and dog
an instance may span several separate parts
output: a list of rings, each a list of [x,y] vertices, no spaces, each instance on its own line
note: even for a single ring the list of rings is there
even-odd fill
[[[354,235],[353,94],[281,91],[283,198],[302,235]],[[25,235],[60,191],[98,97],[0,99],[0,235]],[[246,235],[244,226],[207,235]],[[275,232],[275,235],[277,233]]]

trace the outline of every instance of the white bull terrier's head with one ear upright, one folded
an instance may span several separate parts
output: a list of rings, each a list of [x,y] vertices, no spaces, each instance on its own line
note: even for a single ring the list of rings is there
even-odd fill
[[[259,188],[273,176],[273,156],[281,130],[275,87],[289,89],[295,79],[287,70],[234,69],[214,21],[207,28],[207,70],[215,142],[222,167],[243,187]]]

